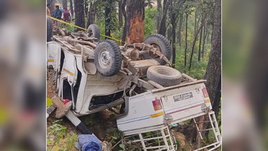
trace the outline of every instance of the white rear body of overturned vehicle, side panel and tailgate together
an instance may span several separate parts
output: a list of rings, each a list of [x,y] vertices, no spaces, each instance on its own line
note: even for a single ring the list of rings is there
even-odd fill
[[[127,101],[128,113],[118,118],[118,128],[122,132],[129,130],[138,130],[150,126],[159,126],[175,124],[180,121],[192,119],[205,115],[204,109],[212,109],[208,97],[203,97],[202,89],[205,89],[203,83],[170,89],[161,92],[148,92],[129,97]],[[181,100],[175,101],[175,98],[182,95],[191,94],[191,96],[181,97]],[[155,110],[153,101],[159,100],[161,106]],[[166,119],[166,117],[168,119]]]

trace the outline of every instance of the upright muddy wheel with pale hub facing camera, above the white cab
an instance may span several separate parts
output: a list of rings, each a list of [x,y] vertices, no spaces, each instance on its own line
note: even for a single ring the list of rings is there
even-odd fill
[[[94,51],[94,62],[98,72],[105,76],[113,76],[120,71],[122,54],[112,40],[102,40]]]

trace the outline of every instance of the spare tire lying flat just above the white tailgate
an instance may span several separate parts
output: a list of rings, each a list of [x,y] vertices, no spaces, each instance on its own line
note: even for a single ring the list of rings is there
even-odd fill
[[[148,68],[147,78],[162,86],[174,86],[181,83],[182,75],[171,67],[156,65]]]

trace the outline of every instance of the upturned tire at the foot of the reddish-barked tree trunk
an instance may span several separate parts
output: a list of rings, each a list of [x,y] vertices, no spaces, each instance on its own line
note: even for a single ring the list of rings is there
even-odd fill
[[[160,51],[170,60],[172,51],[168,39],[161,34],[152,34],[145,38],[144,43],[153,45],[153,47],[158,47]],[[155,59],[160,65],[166,65],[166,61],[160,59],[159,56],[154,54],[144,54],[143,58],[146,59]]]

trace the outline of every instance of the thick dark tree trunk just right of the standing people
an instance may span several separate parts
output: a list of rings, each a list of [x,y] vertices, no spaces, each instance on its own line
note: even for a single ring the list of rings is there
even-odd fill
[[[84,0],[74,1],[75,24],[85,27]],[[80,30],[80,29],[77,29]]]

